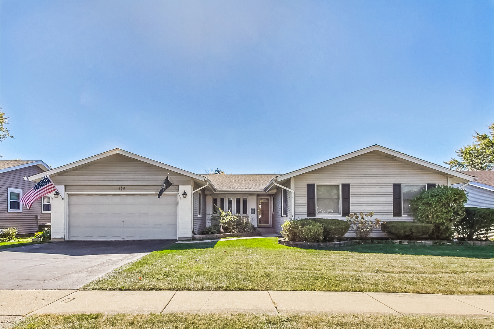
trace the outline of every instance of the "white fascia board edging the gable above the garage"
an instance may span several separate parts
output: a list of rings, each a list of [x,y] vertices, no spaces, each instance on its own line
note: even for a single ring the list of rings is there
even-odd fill
[[[197,174],[188,172],[188,171],[183,170],[183,169],[172,167],[172,166],[169,166],[169,165],[167,165],[165,163],[161,163],[161,162],[158,162],[158,161],[155,161],[155,160],[151,160],[151,159],[145,158],[143,156],[140,156],[140,155],[137,155],[137,154],[134,154],[134,153],[127,152],[127,151],[125,151],[123,149],[120,149],[120,148],[115,148],[115,149],[112,149],[112,150],[109,150],[109,151],[106,151],[106,152],[103,152],[103,153],[100,153],[100,154],[96,154],[96,155],[90,156],[88,158],[85,158],[85,159],[82,159],[82,160],[79,160],[79,161],[76,161],[76,162],[72,162],[72,163],[69,163],[69,164],[60,166],[60,167],[55,168],[55,169],[51,169],[51,170],[49,170],[46,173],[41,173],[41,174],[30,176],[30,177],[28,177],[28,179],[30,181],[39,180],[39,179],[43,178],[46,174],[53,175],[53,174],[59,173],[61,171],[72,169],[72,168],[78,167],[78,166],[82,166],[82,165],[84,165],[86,163],[89,163],[89,162],[92,162],[92,161],[96,161],[96,160],[99,160],[99,159],[102,159],[102,158],[105,158],[107,156],[114,155],[114,154],[122,154],[124,156],[128,156],[129,158],[140,160],[142,162],[147,162],[147,163],[152,164],[152,165],[155,165],[157,167],[168,169],[168,170],[173,171],[175,173],[179,173],[179,174],[182,174],[182,175],[185,175],[185,176],[189,176],[189,177],[192,177],[192,178],[194,178],[196,180],[200,180],[200,181],[203,181],[203,182],[206,180],[206,177],[204,177],[204,176],[200,176],[200,175],[197,175]]]

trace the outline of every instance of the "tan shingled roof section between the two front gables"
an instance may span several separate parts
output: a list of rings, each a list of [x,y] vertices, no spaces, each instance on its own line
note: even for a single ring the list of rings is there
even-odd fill
[[[269,175],[204,175],[218,191],[263,191],[276,176]]]

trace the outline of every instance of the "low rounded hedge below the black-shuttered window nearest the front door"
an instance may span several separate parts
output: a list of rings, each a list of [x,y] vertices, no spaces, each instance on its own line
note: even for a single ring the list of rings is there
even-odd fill
[[[350,229],[350,223],[340,219],[297,219],[287,220],[282,225],[282,235],[295,242],[332,242]],[[309,241],[310,240],[310,241]]]

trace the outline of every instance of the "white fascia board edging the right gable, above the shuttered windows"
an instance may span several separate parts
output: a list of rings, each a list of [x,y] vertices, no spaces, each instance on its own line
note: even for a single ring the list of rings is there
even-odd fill
[[[445,168],[443,166],[440,166],[440,165],[437,165],[437,164],[434,164],[434,163],[431,163],[431,162],[428,162],[425,160],[421,160],[421,159],[415,158],[413,156],[407,155],[405,153],[401,153],[401,152],[398,152],[398,151],[395,151],[395,150],[392,150],[390,148],[386,148],[386,147],[380,146],[380,145],[372,145],[372,146],[362,148],[362,149],[359,149],[357,151],[347,153],[347,154],[344,154],[344,155],[341,155],[341,156],[338,156],[338,157],[335,157],[335,158],[332,158],[332,159],[329,159],[329,160],[326,160],[326,161],[323,161],[320,163],[316,163],[315,165],[308,166],[308,167],[305,167],[302,169],[298,169],[298,170],[292,171],[292,172],[285,174],[285,175],[277,176],[276,179],[278,181],[283,181],[283,180],[286,180],[286,179],[294,177],[294,176],[305,174],[305,173],[308,173],[310,171],[313,171],[313,170],[316,170],[319,168],[323,168],[323,167],[332,165],[332,164],[337,163],[337,162],[341,162],[341,161],[344,161],[344,160],[347,160],[347,159],[350,159],[350,158],[353,158],[353,157],[356,157],[356,156],[359,156],[359,155],[362,155],[365,153],[369,153],[371,151],[381,151],[383,153],[387,153],[387,154],[393,155],[395,157],[398,157],[398,158],[401,158],[404,160],[408,160],[410,162],[422,165],[424,167],[440,171],[440,172],[445,173],[447,175],[451,175],[453,177],[459,177],[461,179],[464,179],[465,181],[471,182],[474,179],[473,176],[465,175],[465,174],[459,173],[455,170]]]

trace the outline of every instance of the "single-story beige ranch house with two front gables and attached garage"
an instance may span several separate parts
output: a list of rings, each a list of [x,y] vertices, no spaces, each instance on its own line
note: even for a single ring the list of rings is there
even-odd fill
[[[250,216],[264,232],[280,231],[289,218],[353,212],[408,221],[409,201],[421,190],[474,179],[378,145],[284,175],[197,175],[119,148],[29,180],[46,174],[60,192],[51,204],[58,241],[189,239],[206,227],[214,206]],[[166,176],[173,185],[158,198]]]

